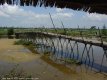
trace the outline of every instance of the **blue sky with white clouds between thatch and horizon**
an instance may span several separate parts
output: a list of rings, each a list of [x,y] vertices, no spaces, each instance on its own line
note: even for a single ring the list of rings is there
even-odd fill
[[[56,27],[61,28],[61,21],[67,28],[90,28],[107,26],[107,15],[72,9],[50,7],[32,7],[0,5],[0,26],[14,27],[53,27],[49,13]]]

